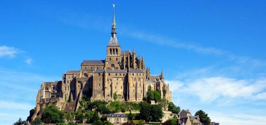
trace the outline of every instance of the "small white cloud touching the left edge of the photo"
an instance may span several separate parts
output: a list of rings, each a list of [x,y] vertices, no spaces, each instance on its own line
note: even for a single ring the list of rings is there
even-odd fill
[[[22,52],[17,48],[14,47],[8,47],[8,46],[0,46],[0,58],[1,57],[15,57],[17,53]]]

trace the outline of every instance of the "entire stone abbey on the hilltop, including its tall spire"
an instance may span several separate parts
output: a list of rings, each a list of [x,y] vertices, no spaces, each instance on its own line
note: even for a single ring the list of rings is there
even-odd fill
[[[114,100],[140,102],[146,97],[148,87],[161,93],[161,98],[172,102],[172,92],[164,82],[163,71],[160,75],[151,75],[146,68],[144,57],[133,51],[122,51],[116,36],[116,23],[113,13],[111,37],[106,47],[104,60],[83,60],[80,70],[66,71],[62,81],[44,82],[36,98],[35,114],[50,103],[64,111],[75,111],[82,95],[91,100]]]

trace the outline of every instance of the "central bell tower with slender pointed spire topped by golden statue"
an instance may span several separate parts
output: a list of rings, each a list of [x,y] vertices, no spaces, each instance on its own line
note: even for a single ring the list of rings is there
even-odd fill
[[[114,8],[114,4],[113,4]],[[119,63],[121,60],[120,57],[120,45],[118,42],[118,39],[116,37],[116,23],[115,23],[115,17],[114,17],[114,11],[113,11],[113,22],[112,22],[112,31],[111,31],[111,38],[107,44],[107,60],[109,61],[108,69],[120,69]]]

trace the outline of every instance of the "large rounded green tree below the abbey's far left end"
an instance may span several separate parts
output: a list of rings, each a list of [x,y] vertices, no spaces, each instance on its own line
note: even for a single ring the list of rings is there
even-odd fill
[[[44,123],[63,123],[64,122],[64,112],[60,111],[54,105],[47,106],[43,109],[41,120]]]

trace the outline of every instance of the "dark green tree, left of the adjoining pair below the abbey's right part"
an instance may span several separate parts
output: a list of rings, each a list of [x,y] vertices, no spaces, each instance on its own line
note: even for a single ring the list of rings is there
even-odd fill
[[[140,103],[140,117],[143,120],[146,120],[147,122],[150,121],[150,113],[151,113],[151,105],[147,103]]]

